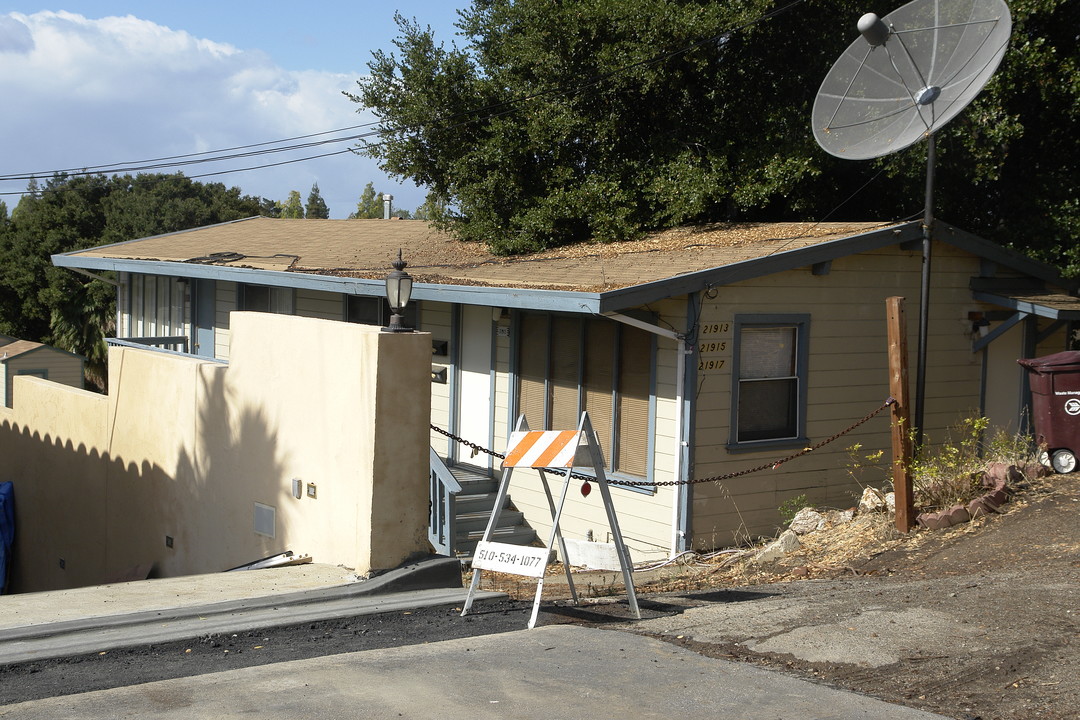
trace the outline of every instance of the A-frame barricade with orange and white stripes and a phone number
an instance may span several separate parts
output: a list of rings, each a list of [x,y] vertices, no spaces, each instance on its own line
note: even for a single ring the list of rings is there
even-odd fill
[[[472,608],[473,596],[480,587],[482,571],[507,572],[537,579],[536,599],[532,603],[532,615],[529,617],[529,628],[535,627],[537,615],[540,612],[544,575],[551,563],[551,552],[556,541],[558,541],[559,557],[563,558],[563,567],[566,570],[570,596],[573,603],[578,603],[578,593],[573,587],[573,578],[567,561],[566,543],[563,541],[563,533],[558,527],[559,518],[563,516],[563,507],[566,504],[567,491],[570,488],[570,474],[572,468],[578,466],[592,468],[594,477],[591,477],[589,481],[595,481],[600,489],[608,525],[611,529],[611,538],[619,557],[619,566],[622,569],[623,583],[626,586],[626,599],[634,616],[640,620],[642,611],[637,607],[637,595],[634,593],[630,553],[626,551],[622,532],[619,530],[619,519],[616,517],[611,491],[608,488],[607,476],[604,474],[604,456],[596,440],[596,433],[593,432],[593,424],[589,420],[589,413],[581,413],[577,430],[567,431],[529,431],[528,422],[525,420],[525,416],[522,416],[517,420],[517,427],[510,434],[510,440],[507,445],[507,457],[502,462],[502,479],[499,481],[495,507],[491,510],[487,529],[484,530],[484,538],[476,544],[476,549],[473,552],[472,584],[469,586],[461,614],[468,614]],[[491,542],[491,534],[499,525],[499,516],[505,504],[510,478],[515,467],[532,467],[540,475],[552,518],[551,534],[548,538],[548,544],[542,548]],[[557,503],[548,483],[549,472],[558,472],[564,478],[563,490]]]

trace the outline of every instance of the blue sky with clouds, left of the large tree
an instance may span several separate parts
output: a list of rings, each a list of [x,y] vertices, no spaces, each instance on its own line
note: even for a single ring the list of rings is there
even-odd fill
[[[9,176],[122,167],[370,123],[374,116],[341,93],[356,89],[373,51],[394,50],[394,11],[430,25],[436,40],[449,45],[457,39],[457,9],[468,4],[0,0],[0,201],[13,208],[26,189],[25,178],[3,179]],[[352,146],[355,141],[327,142],[148,172],[179,169],[197,177]],[[369,181],[392,193],[400,208],[415,209],[426,194],[351,152],[198,179],[278,201],[291,190],[307,200],[318,182],[334,218],[355,210]]]

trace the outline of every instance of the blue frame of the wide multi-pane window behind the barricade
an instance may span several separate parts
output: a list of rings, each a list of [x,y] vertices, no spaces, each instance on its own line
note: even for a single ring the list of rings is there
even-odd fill
[[[554,323],[555,318],[569,318],[569,320],[575,320],[575,321],[578,322],[577,331],[578,331],[579,349],[578,349],[578,362],[577,362],[577,366],[578,366],[578,370],[577,370],[577,372],[578,372],[578,409],[577,409],[577,416],[578,416],[579,419],[581,417],[581,408],[582,408],[583,403],[584,403],[583,395],[584,395],[584,392],[585,392],[584,385],[583,385],[583,379],[584,379],[584,369],[585,369],[585,365],[586,365],[586,362],[585,362],[585,351],[586,351],[585,338],[586,338],[588,327],[589,327],[588,323],[589,323],[589,321],[604,321],[604,322],[612,323],[612,327],[615,328],[615,335],[613,335],[613,338],[612,338],[611,352],[612,352],[612,355],[613,355],[613,357],[616,359],[617,369],[613,371],[613,375],[612,375],[613,379],[612,379],[612,390],[611,390],[611,402],[612,402],[611,421],[610,421],[610,424],[607,424],[605,427],[597,427],[594,424],[593,425],[593,430],[596,432],[597,436],[600,438],[600,443],[602,443],[603,447],[608,450],[607,454],[609,454],[611,457],[611,462],[612,463],[616,462],[616,459],[618,458],[618,452],[619,452],[619,448],[618,448],[618,446],[616,444],[616,438],[617,438],[617,430],[618,430],[619,422],[620,422],[620,416],[619,416],[619,412],[618,412],[617,408],[618,408],[618,397],[619,397],[618,382],[619,382],[619,379],[621,378],[621,366],[622,366],[622,347],[621,347],[621,343],[622,343],[622,332],[624,332],[627,329],[629,326],[626,326],[623,323],[619,323],[619,322],[616,322],[616,321],[612,321],[612,320],[609,320],[609,318],[595,317],[595,316],[584,317],[582,315],[577,315],[577,314],[571,314],[571,313],[553,313],[553,312],[536,312],[536,311],[514,311],[513,327],[515,328],[515,331],[514,331],[514,335],[513,335],[514,340],[513,340],[512,355],[511,355],[512,361],[513,361],[513,365],[512,365],[512,381],[511,381],[512,395],[511,395],[511,398],[510,398],[511,399],[511,402],[510,402],[510,407],[511,407],[511,409],[510,409],[510,423],[511,423],[512,427],[516,425],[517,417],[521,415],[521,394],[522,394],[521,352],[522,352],[522,341],[523,341],[522,329],[524,327],[523,318],[524,318],[525,315],[540,316],[540,317],[543,317],[544,321],[545,321],[545,323],[544,323],[544,332],[545,332],[545,335],[544,335],[544,338],[543,338],[544,350],[545,350],[545,358],[544,358],[544,418],[543,418],[543,423],[542,423],[541,426],[537,426],[536,425],[535,419],[531,420],[531,422],[530,422],[530,430],[548,430],[548,420],[549,420],[549,418],[551,417],[551,413],[552,413],[552,407],[551,407],[551,396],[552,396],[551,395],[551,385],[552,385],[553,379],[552,379],[552,357],[551,357],[552,344],[551,343],[552,343],[552,336],[553,336],[553,331],[554,331],[554,326],[555,326],[555,323]],[[644,330],[642,330],[642,331],[644,331]],[[615,471],[615,470],[611,470],[610,467],[605,467],[605,475],[607,477],[608,484],[611,487],[618,487],[618,488],[622,488],[623,490],[629,490],[629,491],[632,491],[632,492],[639,492],[639,493],[650,494],[651,495],[651,494],[656,494],[656,492],[657,492],[657,487],[653,484],[653,473],[654,473],[653,450],[654,450],[654,444],[656,444],[656,432],[654,431],[656,431],[656,408],[657,408],[657,337],[656,337],[656,335],[653,335],[651,332],[648,332],[647,335],[648,335],[648,339],[649,339],[649,348],[648,348],[648,352],[649,352],[649,359],[648,359],[649,379],[648,379],[648,409],[647,409],[647,413],[648,413],[648,429],[646,431],[646,447],[645,447],[645,475],[644,476],[643,475],[633,475],[633,474],[630,474],[630,473]],[[592,420],[592,417],[590,417],[590,420]],[[573,472],[582,474],[582,475],[595,476],[595,473],[593,473],[592,468],[590,468],[590,467],[581,467],[581,468],[577,468],[576,467]],[[645,485],[645,486],[640,486],[640,485],[623,485],[622,483],[620,483],[620,479],[623,479],[623,480],[633,480],[634,483],[643,483],[644,481],[647,485]]]

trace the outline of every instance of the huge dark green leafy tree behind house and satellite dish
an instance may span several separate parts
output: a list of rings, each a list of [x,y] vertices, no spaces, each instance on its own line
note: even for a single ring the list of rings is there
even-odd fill
[[[939,141],[939,215],[1080,272],[1075,10],[1010,6],[1001,72]],[[823,0],[761,19],[774,10],[474,0],[462,47],[397,16],[397,52],[375,52],[349,95],[381,120],[362,149],[445,199],[438,225],[499,253],[704,221],[917,213],[923,152],[843,161],[809,127],[864,5]]]

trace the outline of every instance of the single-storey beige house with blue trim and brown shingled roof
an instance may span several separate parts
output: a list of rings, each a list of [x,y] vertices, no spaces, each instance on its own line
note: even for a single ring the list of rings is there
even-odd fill
[[[476,448],[500,452],[518,416],[563,430],[588,410],[640,560],[771,534],[794,497],[853,504],[846,448],[888,449],[888,413],[774,461],[882,405],[890,296],[907,298],[915,367],[921,239],[918,222],[723,225],[501,258],[418,221],[251,218],[53,262],[118,273],[120,338],[227,359],[235,310],[384,324],[401,249],[408,323],[433,338],[433,453],[497,476]],[[1065,349],[1080,303],[1054,269],[959,228],[937,223],[932,252],[926,437],[970,413],[1015,430],[1016,358]],[[511,494],[543,535],[541,484],[517,472]],[[573,493],[562,528],[605,540],[596,494]]]

